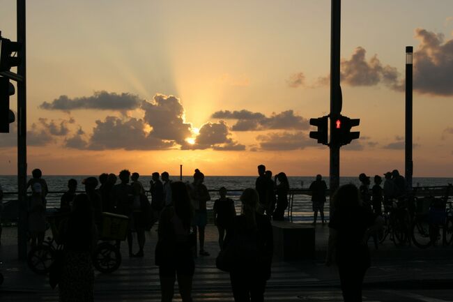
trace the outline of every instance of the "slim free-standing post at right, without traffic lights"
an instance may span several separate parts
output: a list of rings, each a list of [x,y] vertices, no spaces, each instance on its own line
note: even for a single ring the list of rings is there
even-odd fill
[[[412,190],[412,56],[413,47],[406,46],[406,152],[404,161],[404,170],[406,177],[407,189]]]

